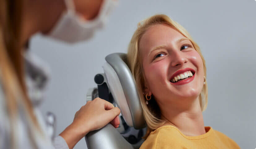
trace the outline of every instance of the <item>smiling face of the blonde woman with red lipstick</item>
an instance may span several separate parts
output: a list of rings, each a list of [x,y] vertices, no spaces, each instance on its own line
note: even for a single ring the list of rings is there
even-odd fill
[[[139,47],[144,92],[153,94],[160,105],[198,99],[204,82],[203,62],[190,40],[169,25],[160,24],[143,34]]]

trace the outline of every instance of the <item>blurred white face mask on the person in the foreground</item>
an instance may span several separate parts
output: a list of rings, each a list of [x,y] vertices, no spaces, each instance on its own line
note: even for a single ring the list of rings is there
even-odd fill
[[[117,1],[103,0],[98,15],[93,20],[83,20],[76,13],[73,0],[65,0],[67,11],[63,13],[48,36],[68,43],[76,43],[93,37],[96,29],[102,28]]]

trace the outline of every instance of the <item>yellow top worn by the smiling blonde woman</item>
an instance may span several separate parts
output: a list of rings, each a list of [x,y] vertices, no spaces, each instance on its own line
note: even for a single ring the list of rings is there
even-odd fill
[[[240,149],[231,138],[211,127],[199,136],[186,136],[174,126],[152,131],[140,149]]]

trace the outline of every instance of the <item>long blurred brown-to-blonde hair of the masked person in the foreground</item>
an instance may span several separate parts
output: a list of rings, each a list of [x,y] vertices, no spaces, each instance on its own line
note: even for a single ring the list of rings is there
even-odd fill
[[[24,58],[21,45],[22,0],[0,1],[0,82],[4,91],[6,113],[11,130],[11,147],[16,148],[15,129],[18,123],[18,109],[27,117],[31,130],[41,128],[33,111],[33,105],[28,98],[24,81]],[[30,132],[33,134],[33,132]],[[33,137],[32,137],[33,138]],[[33,141],[33,139],[32,139]]]

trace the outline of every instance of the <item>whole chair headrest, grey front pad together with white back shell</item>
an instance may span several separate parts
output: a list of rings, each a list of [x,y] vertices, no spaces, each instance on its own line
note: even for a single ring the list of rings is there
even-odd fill
[[[125,53],[112,53],[106,56],[103,69],[108,87],[120,108],[128,126],[135,129],[145,127],[142,107],[132,73],[127,66]]]

